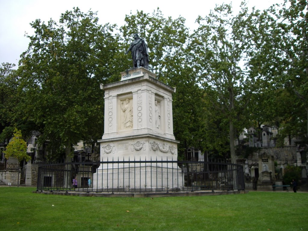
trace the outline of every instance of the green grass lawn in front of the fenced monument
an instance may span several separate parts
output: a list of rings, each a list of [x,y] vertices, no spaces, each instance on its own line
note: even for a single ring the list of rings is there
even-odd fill
[[[77,197],[0,187],[0,230],[308,230],[308,193]]]

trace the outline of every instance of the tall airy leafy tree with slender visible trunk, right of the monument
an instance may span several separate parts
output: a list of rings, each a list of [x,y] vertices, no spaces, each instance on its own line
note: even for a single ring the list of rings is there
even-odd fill
[[[211,108],[215,116],[225,118],[220,126],[229,134],[233,163],[236,162],[235,137],[247,125],[246,107],[261,82],[249,63],[255,49],[252,41],[260,36],[257,25],[260,16],[260,11],[254,8],[249,13],[245,3],[236,16],[233,16],[231,5],[217,6],[205,18],[199,16],[199,28],[189,44],[192,65],[201,78]]]

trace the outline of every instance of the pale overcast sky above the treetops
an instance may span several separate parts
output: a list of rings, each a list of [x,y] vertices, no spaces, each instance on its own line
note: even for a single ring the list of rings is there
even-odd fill
[[[138,4],[137,4],[138,2]],[[50,18],[59,21],[61,13],[79,7],[82,12],[88,10],[98,11],[100,24],[110,22],[122,26],[125,14],[136,13],[143,10],[144,13],[152,13],[157,7],[165,17],[186,19],[186,26],[196,29],[195,20],[198,15],[204,17],[213,10],[215,5],[231,0],[190,0],[190,1],[122,1],[122,0],[0,0],[0,63],[15,63],[18,65],[19,56],[26,51],[29,39],[24,37],[25,32],[32,35],[34,31],[29,23],[39,18],[47,22]],[[274,3],[282,3],[282,0],[247,0],[248,6],[256,6],[256,9],[266,9]],[[233,10],[239,9],[241,0],[233,0]]]

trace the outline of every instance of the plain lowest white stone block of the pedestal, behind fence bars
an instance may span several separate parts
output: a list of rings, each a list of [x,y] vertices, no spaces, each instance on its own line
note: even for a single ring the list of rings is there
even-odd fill
[[[113,165],[113,166],[112,166]],[[183,173],[180,168],[167,164],[106,164],[93,175],[93,189],[117,191],[165,191],[182,188]]]

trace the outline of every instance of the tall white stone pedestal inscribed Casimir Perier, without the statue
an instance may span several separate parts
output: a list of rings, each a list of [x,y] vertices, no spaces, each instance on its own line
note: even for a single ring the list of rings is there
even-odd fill
[[[121,81],[101,85],[104,90],[104,134],[101,164],[93,187],[134,190],[177,188],[183,173],[177,163],[173,135],[172,93],[144,67],[121,72]],[[110,164],[110,162],[112,162]]]

